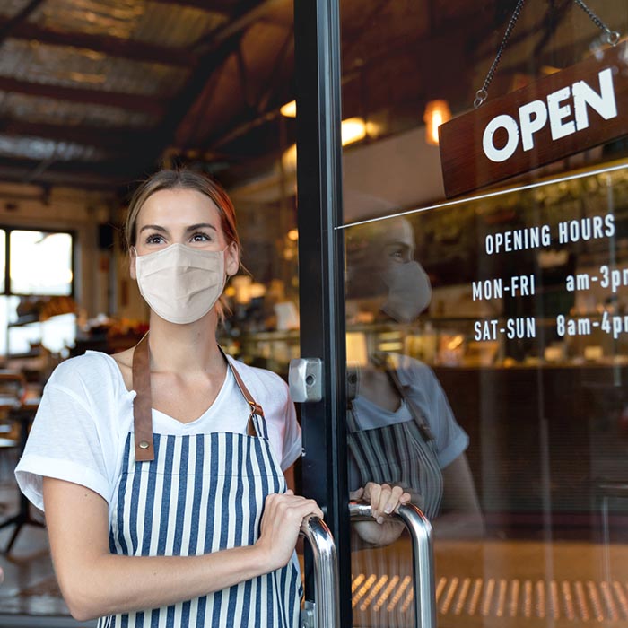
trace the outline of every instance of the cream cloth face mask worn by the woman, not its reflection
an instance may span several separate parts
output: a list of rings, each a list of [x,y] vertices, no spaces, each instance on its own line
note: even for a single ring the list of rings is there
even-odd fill
[[[227,275],[224,252],[171,244],[148,255],[136,255],[140,293],[151,310],[170,323],[193,323],[214,307]]]

